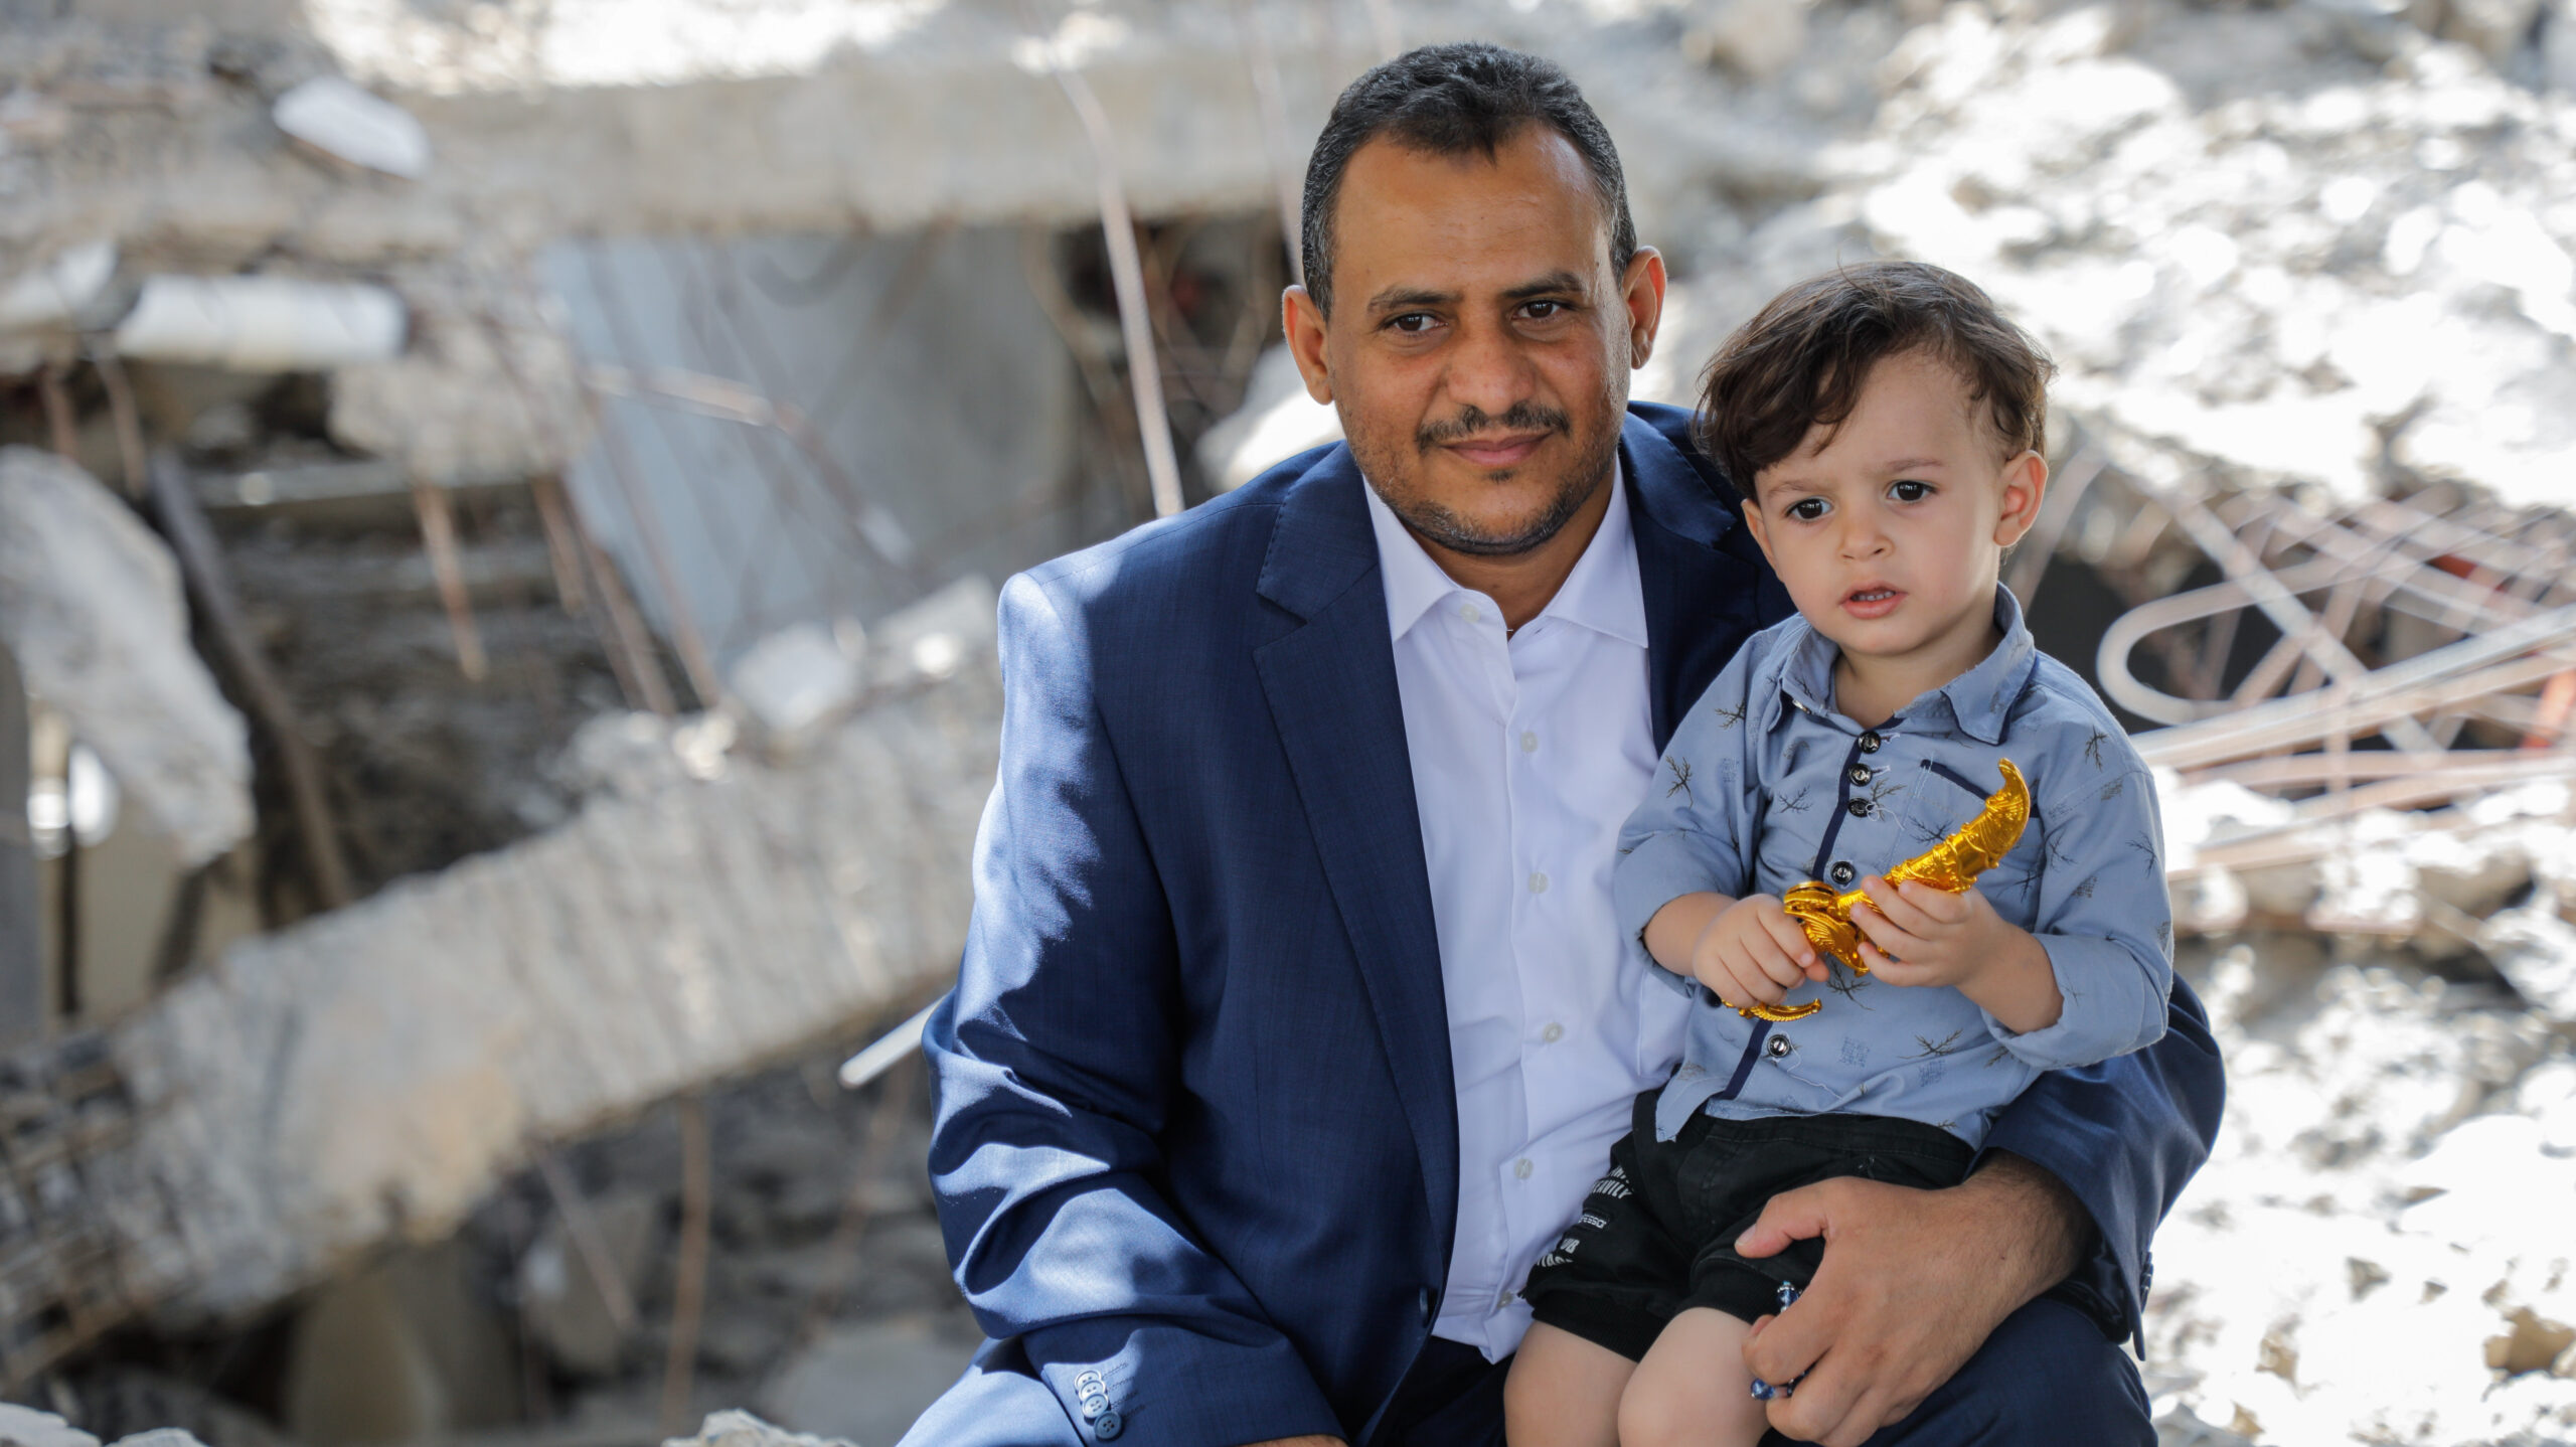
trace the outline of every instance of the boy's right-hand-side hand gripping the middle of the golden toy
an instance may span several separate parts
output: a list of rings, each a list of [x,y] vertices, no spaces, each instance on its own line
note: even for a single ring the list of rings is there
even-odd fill
[[[1978,891],[1860,881],[1870,904],[1852,906],[1860,960],[1888,984],[1945,984],[1994,1012],[2014,1035],[2058,1022],[2063,999],[2048,950],[2009,924]]]

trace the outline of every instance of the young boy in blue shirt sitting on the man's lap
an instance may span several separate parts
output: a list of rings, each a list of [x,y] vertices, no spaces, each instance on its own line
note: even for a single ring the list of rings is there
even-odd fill
[[[1739,1256],[1762,1205],[1958,1184],[2040,1071],[2164,1032],[2154,785],[1996,582],[2048,484],[2048,373],[1984,291],[1911,263],[1806,281],[1710,363],[1703,443],[1798,618],[1692,705],[1620,832],[1620,927],[1692,991],[1690,1043],[1530,1272],[1512,1447],[1757,1442],[1747,1323],[1824,1256]],[[2012,852],[1965,893],[1891,888],[2007,760],[2030,788]],[[1803,881],[1868,893],[1857,960],[1783,911]]]

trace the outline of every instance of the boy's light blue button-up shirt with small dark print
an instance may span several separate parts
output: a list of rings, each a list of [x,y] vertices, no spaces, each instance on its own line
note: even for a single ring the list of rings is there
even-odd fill
[[[2014,1035],[1947,986],[1893,986],[1829,963],[1788,1004],[1806,1020],[1744,1020],[1680,976],[1692,1017],[1682,1069],[1656,1102],[1672,1138],[1695,1110],[1896,1115],[1981,1146],[2040,1071],[2089,1066],[2164,1035],[2174,917],[2164,893],[2156,788],[2120,724],[2066,664],[2040,654],[2012,592],[1986,662],[1878,729],[1834,711],[1834,644],[1806,618],[1765,628],[1690,708],[1646,803],[1620,829],[1613,901],[1636,940],[1685,893],[1837,891],[1909,860],[2002,788],[2030,780],[2030,826],[1976,888],[2038,935],[2066,1007]]]

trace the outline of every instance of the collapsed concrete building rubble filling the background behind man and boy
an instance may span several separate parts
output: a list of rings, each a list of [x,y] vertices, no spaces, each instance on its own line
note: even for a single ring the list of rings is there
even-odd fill
[[[891,1442],[971,1323],[829,1066],[953,968],[992,582],[1334,433],[1306,144],[1481,36],[1620,142],[1638,394],[1868,255],[2063,368],[2009,582],[2233,1087],[2166,1442],[2576,1439],[2566,0],[0,21],[0,1398]]]

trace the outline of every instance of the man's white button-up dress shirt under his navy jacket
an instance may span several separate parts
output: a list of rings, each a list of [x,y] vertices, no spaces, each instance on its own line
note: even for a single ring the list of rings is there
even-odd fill
[[[1628,1102],[1682,1058],[1685,1002],[1618,935],[1610,863],[1654,778],[1646,597],[1625,476],[1548,608],[1504,636],[1368,494],[1422,811],[1458,1081],[1458,1244],[1437,1336],[1502,1359],[1520,1287]]]

